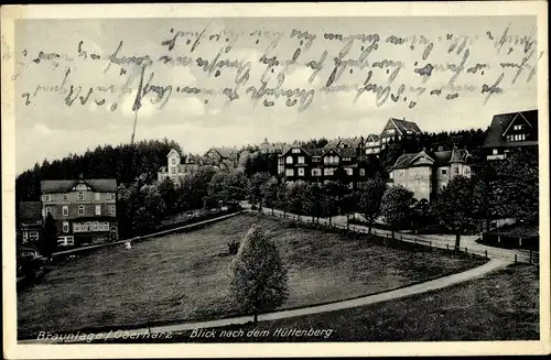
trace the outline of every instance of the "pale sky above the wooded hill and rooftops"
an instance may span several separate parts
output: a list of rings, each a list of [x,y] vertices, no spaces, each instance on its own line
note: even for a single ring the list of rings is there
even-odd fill
[[[294,36],[293,30],[296,31]],[[174,47],[169,50],[162,42],[173,39],[179,31],[182,36],[177,36]],[[299,39],[306,32],[307,36]],[[404,90],[397,101],[388,96],[383,103],[378,103],[376,94],[365,91],[355,102],[356,91],[324,91],[335,68],[334,58],[348,44],[347,36],[356,34],[377,34],[380,40],[365,57],[367,66],[349,65],[332,86],[343,89],[344,85],[364,85],[371,70],[368,83],[380,86],[380,89],[389,86],[392,95],[398,94],[403,84]],[[170,97],[165,94],[163,98],[168,101],[162,108],[162,100],[152,103],[156,99],[152,92],[142,99],[137,111],[136,141],[168,138],[179,142],[186,153],[204,153],[212,146],[241,146],[260,143],[264,138],[271,142],[292,142],[380,133],[389,118],[415,121],[428,132],[486,129],[495,113],[537,108],[537,75],[528,80],[539,55],[537,44],[525,52],[526,43],[521,41],[525,36],[534,41],[536,34],[534,17],[20,20],[15,23],[14,46],[19,62],[14,73],[17,173],[44,159],[52,161],[69,153],[84,153],[97,145],[130,142],[134,120],[132,106],[141,68],[121,65],[123,57],[128,63],[131,57],[136,62],[137,57],[149,56],[152,65],[144,68],[144,83],[153,74],[150,85],[159,88],[172,86]],[[210,39],[212,35],[220,36],[218,40]],[[312,40],[312,35],[316,37]],[[387,42],[390,35],[402,39],[403,43]],[[420,40],[421,35],[428,40],[425,43]],[[278,36],[277,45],[268,48]],[[462,46],[464,36],[467,41]],[[363,52],[366,53],[372,43],[372,37],[366,37],[363,42],[357,36],[342,59],[357,59]],[[506,40],[503,44],[501,39]],[[456,41],[457,45],[453,47]],[[122,47],[110,58],[120,42]],[[295,64],[283,66],[298,48],[300,55]],[[534,53],[530,53],[531,50]],[[324,51],[326,58],[310,83],[314,69],[309,63],[320,62]],[[467,51],[464,69],[454,81],[460,88],[446,88],[454,74],[447,69],[447,64],[458,66]],[[42,58],[33,61],[41,52]],[[228,65],[233,61],[242,65],[241,75],[248,69],[248,80],[237,88],[239,98],[234,101],[220,91],[236,88],[237,68],[220,67],[217,74],[216,69],[205,70],[204,64],[197,66],[205,59],[212,63],[219,52],[218,59],[228,59]],[[47,54],[52,53],[60,57],[48,59]],[[99,58],[93,59],[90,54]],[[268,58],[276,56],[282,63],[271,68],[273,73],[259,61],[264,54]],[[170,66],[158,61],[163,55],[192,61],[187,66]],[[517,69],[504,68],[500,64],[519,64],[526,56],[529,57],[527,66],[514,83]],[[401,63],[391,81],[389,78],[397,66],[379,68],[375,65],[383,61]],[[415,68],[426,69],[428,64],[434,66],[430,76],[423,76],[419,70],[415,73]],[[486,67],[468,73],[467,68],[476,64],[486,64]],[[62,87],[67,69],[69,75]],[[491,87],[501,73],[500,92],[493,94],[485,101],[484,85]],[[268,88],[274,87],[278,76],[281,79],[280,74],[284,74],[281,88],[312,90],[312,102],[305,110],[299,110],[299,102],[288,107],[284,96],[261,98],[257,105],[251,100],[251,92],[247,91],[249,87],[258,89],[261,78]],[[132,81],[125,92],[122,86],[129,78]],[[84,105],[78,99],[71,106],[66,105],[65,97],[72,85],[74,89],[82,86],[83,96],[93,88]],[[54,91],[54,86],[58,87],[57,91]],[[112,94],[98,90],[98,87],[109,86],[112,86]],[[217,92],[176,91],[185,86]],[[431,90],[443,86],[440,96],[430,95]],[[472,86],[471,90],[468,86]],[[412,91],[418,87],[424,87],[425,91],[421,95]],[[385,92],[381,92],[382,99]],[[102,99],[105,103],[98,106]],[[264,99],[273,100],[274,105],[263,106]],[[117,106],[111,111],[114,103]]]

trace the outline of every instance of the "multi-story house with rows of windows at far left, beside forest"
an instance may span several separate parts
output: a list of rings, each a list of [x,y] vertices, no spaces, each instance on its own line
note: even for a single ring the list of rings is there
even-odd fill
[[[52,214],[61,246],[118,239],[117,181],[42,181],[42,216]]]

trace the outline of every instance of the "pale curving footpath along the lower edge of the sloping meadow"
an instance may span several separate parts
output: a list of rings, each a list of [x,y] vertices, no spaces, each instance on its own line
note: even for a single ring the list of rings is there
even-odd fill
[[[425,292],[430,291],[435,291],[440,288],[444,288],[447,286],[452,286],[455,284],[460,284],[469,280],[474,280],[480,276],[484,276],[488,273],[491,273],[496,270],[499,270],[501,268],[505,268],[507,265],[511,264],[510,261],[507,261],[505,259],[491,259],[484,265],[464,271],[462,273],[431,280],[424,283],[407,286],[407,287],[401,287],[397,290],[391,290],[374,295],[367,295],[354,299],[347,299],[347,301],[341,301],[341,302],[335,302],[335,303],[329,303],[329,304],[324,304],[324,305],[315,305],[315,306],[309,306],[309,307],[302,307],[302,308],[295,308],[295,309],[289,309],[289,310],[280,310],[280,312],[273,312],[273,313],[267,313],[258,316],[259,321],[268,321],[268,320],[277,320],[277,319],[283,319],[283,318],[290,318],[290,317],[295,317],[295,316],[304,316],[304,315],[313,315],[313,314],[321,314],[321,313],[327,313],[327,312],[335,312],[335,310],[341,310],[345,308],[352,308],[352,307],[358,307],[358,306],[366,306],[366,305],[371,305],[371,304],[377,304],[377,303],[382,303],[387,301],[392,301],[392,299],[398,299],[415,294],[422,294]],[[252,316],[240,316],[240,317],[231,317],[231,318],[225,318],[225,319],[219,319],[219,320],[212,320],[212,321],[199,321],[199,323],[183,323],[183,324],[175,324],[175,325],[168,325],[168,326],[158,326],[158,327],[150,327],[150,328],[139,328],[139,329],[129,329],[129,332],[139,335],[139,334],[148,334],[148,332],[169,332],[169,331],[184,331],[184,330],[193,330],[193,329],[199,329],[199,328],[214,328],[214,327],[223,327],[223,326],[228,326],[228,325],[242,325],[246,323],[250,323],[252,320]],[[106,339],[108,336],[112,337],[112,334],[110,332],[98,332],[95,334],[96,339]],[[32,339],[32,340],[20,340],[18,341],[19,343],[53,343],[56,341],[52,340],[37,340],[37,339]],[[67,342],[84,342],[83,340],[75,339],[73,341],[64,341],[65,343]]]

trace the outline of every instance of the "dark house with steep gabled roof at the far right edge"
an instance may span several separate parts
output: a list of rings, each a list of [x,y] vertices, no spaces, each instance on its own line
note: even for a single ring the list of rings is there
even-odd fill
[[[486,132],[486,160],[503,160],[509,152],[538,146],[538,110],[494,116]]]

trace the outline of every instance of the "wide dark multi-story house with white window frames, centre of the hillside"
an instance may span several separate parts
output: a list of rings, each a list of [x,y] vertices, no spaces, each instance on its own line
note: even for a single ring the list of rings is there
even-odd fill
[[[323,149],[304,149],[299,144],[289,146],[278,159],[278,174],[288,182],[305,181],[323,183],[336,181],[337,170],[343,170],[348,188],[366,179],[366,170],[358,165],[359,149],[350,145]],[[341,178],[342,179],[342,178]]]

